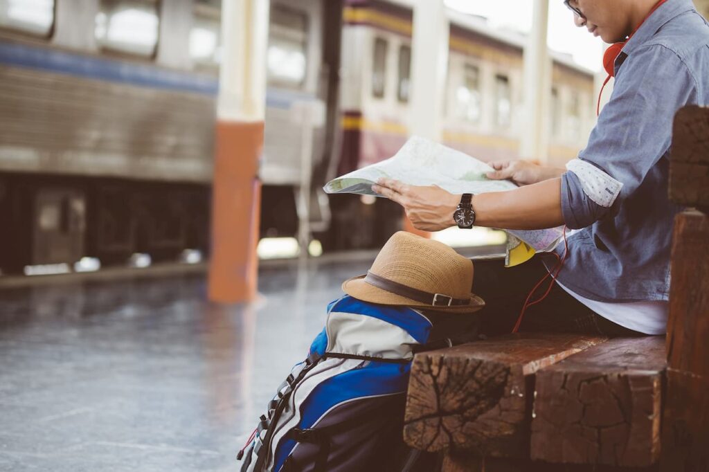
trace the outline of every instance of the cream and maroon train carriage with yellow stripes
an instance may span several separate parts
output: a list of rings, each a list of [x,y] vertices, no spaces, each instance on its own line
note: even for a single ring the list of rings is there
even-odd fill
[[[400,4],[345,1],[337,174],[391,157],[406,140],[412,18]],[[450,19],[442,141],[485,161],[516,159],[524,126],[524,39],[493,30],[484,18]],[[552,72],[549,156],[562,165],[584,147],[595,123],[587,106],[593,74],[559,55]],[[331,196],[330,202],[329,239],[338,249],[377,247],[401,227],[401,210],[389,201]]]

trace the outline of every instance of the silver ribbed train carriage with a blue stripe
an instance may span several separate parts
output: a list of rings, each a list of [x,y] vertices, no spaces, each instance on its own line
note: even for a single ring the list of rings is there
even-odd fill
[[[269,165],[300,162],[298,125],[281,122],[293,103],[318,99],[323,47],[320,2],[273,3],[269,53],[285,60],[270,61],[267,203],[281,188]],[[49,0],[13,16],[0,4],[0,270],[208,253],[220,0],[77,7]],[[295,208],[280,210],[296,220]]]

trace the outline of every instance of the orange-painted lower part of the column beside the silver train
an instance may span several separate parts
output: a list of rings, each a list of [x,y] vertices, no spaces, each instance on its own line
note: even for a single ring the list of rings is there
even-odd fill
[[[209,299],[253,300],[258,279],[261,184],[258,161],[264,123],[218,123],[212,201]]]

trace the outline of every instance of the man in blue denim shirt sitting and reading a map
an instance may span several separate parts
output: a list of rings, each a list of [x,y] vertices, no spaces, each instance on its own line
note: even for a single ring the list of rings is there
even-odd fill
[[[512,179],[520,188],[473,196],[474,224],[580,230],[569,235],[557,283],[526,313],[523,329],[661,334],[672,225],[680,210],[667,198],[671,127],[682,106],[709,104],[709,25],[691,0],[564,3],[574,11],[577,26],[605,42],[630,36],[622,51],[621,45],[612,47],[619,54],[608,60],[615,74],[613,94],[588,146],[566,169],[524,161],[494,164],[491,179]],[[467,203],[436,186],[378,184],[374,190],[400,203],[420,230],[454,225],[458,206]],[[558,269],[563,252],[561,247],[559,258],[535,257],[516,271],[476,270],[476,290],[488,303],[486,311],[495,310],[494,318],[487,317],[493,320],[489,330],[509,329],[503,314],[518,313],[527,292],[547,274],[541,262],[548,270]]]

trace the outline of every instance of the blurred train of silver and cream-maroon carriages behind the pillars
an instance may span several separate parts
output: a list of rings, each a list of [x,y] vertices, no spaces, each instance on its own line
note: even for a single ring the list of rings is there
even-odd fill
[[[297,234],[309,149],[313,238],[325,251],[379,247],[401,227],[401,209],[320,188],[406,140],[411,5],[270,8],[261,235]],[[220,10],[220,0],[0,4],[2,274],[208,257]],[[476,16],[450,12],[450,24],[443,142],[481,159],[517,157],[525,39]],[[584,147],[593,83],[553,55],[552,159]],[[302,102],[324,110],[310,134],[292,120]]]

